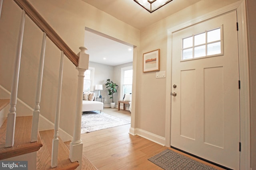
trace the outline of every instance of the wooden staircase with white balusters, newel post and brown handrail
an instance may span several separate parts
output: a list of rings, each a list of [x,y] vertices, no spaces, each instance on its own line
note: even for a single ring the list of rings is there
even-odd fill
[[[84,72],[88,69],[89,61],[89,55],[85,53],[86,48],[80,47],[81,51],[76,55],[27,0],[13,1],[22,9],[22,17],[20,21],[20,31],[18,35],[10,100],[0,99],[0,160],[28,161],[28,170],[96,170],[95,166],[91,164],[85,156],[83,156],[83,144],[80,138]],[[3,0],[0,0],[0,16],[1,10],[4,8],[4,6],[2,7],[2,5],[4,5],[2,2]],[[43,39],[37,76],[38,80],[36,82],[36,100],[33,115],[16,116],[25,16],[28,16],[38,26],[38,28],[42,30]],[[52,41],[52,43],[54,43],[61,51],[58,96],[56,101],[54,129],[38,131],[46,38],[50,39],[50,41]],[[66,144],[58,135],[64,55],[76,66],[76,69],[78,70],[78,87],[75,101],[76,115],[75,122],[72,123],[74,125],[74,134],[72,141],[69,141]],[[8,111],[6,112],[6,110]],[[67,147],[67,145],[69,146]]]

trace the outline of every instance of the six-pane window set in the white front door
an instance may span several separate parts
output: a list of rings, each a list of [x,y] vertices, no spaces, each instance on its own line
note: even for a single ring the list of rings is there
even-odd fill
[[[182,60],[223,55],[222,26],[182,39]]]

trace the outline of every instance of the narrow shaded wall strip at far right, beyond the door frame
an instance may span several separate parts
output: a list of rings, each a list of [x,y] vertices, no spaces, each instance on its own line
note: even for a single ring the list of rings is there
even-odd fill
[[[251,167],[256,170],[256,1],[246,0],[250,77]]]

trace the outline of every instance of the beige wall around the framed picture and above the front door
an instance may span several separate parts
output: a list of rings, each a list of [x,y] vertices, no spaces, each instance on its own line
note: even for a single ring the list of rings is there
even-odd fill
[[[165,137],[166,78],[156,78],[156,72],[142,72],[143,53],[160,49],[160,71],[166,71],[167,29],[237,1],[208,0],[206,3],[202,0],[141,30],[140,57],[137,59],[137,128]]]

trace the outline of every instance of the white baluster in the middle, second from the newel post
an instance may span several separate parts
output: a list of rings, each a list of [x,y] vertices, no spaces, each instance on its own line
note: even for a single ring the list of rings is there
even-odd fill
[[[38,122],[40,115],[40,99],[41,99],[41,90],[42,90],[42,79],[43,79],[43,71],[44,71],[44,54],[45,54],[45,46],[46,46],[46,33],[43,34],[39,68],[38,68],[38,76],[37,76],[37,85],[36,85],[36,104],[33,111],[33,120],[32,120],[32,129],[31,129],[31,139],[30,142],[37,141],[38,134]]]

